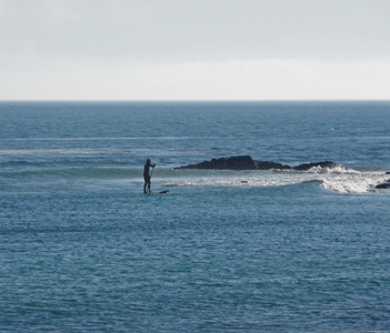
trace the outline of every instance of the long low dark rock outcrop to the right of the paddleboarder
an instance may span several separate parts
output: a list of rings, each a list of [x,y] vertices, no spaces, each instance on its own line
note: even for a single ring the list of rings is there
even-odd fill
[[[253,160],[250,155],[244,157],[232,157],[232,158],[222,158],[222,159],[212,159],[211,161],[204,161],[198,164],[189,164],[174,169],[203,169],[203,170],[297,170],[297,171],[308,171],[314,167],[321,168],[336,168],[339,164],[334,162],[318,162],[301,164],[298,167],[291,168],[290,165],[283,165],[276,162],[268,161],[257,161]]]

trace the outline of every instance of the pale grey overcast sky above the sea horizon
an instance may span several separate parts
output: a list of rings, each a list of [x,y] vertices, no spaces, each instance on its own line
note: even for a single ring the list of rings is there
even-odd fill
[[[0,0],[0,100],[390,100],[390,0]]]

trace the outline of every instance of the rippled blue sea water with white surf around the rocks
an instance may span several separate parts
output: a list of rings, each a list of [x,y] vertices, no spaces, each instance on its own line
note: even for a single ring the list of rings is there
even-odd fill
[[[1,102],[0,123],[1,332],[390,332],[390,102]],[[232,155],[340,167],[173,170]]]

